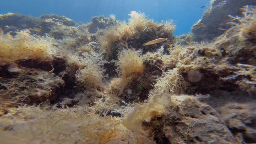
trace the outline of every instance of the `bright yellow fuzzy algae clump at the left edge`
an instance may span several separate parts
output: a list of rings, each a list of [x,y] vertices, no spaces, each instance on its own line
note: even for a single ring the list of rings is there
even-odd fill
[[[32,36],[28,31],[19,31],[0,36],[0,65],[25,59],[52,62],[55,47],[47,37]]]

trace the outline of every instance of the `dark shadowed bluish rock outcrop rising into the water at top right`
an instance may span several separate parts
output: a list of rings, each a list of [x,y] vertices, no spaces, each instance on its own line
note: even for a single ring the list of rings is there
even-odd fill
[[[230,22],[237,22],[231,16],[243,16],[241,9],[246,5],[256,5],[255,0],[211,0],[202,19],[197,23],[205,24],[204,28],[192,28],[193,40],[210,42],[232,27]]]

